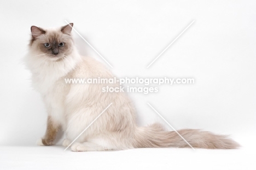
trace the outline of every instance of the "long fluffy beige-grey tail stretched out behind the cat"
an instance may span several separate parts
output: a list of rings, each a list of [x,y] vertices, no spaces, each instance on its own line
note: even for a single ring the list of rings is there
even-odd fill
[[[235,149],[240,145],[227,136],[200,130],[178,131],[193,148]],[[164,131],[160,124],[138,127],[135,134],[135,148],[190,147],[176,132]]]

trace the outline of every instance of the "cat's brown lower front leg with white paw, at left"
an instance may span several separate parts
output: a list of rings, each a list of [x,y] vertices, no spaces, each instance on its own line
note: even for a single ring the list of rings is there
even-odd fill
[[[44,138],[37,140],[37,145],[49,146],[54,145],[57,132],[60,129],[60,125],[53,121],[51,116],[48,116],[47,127]]]

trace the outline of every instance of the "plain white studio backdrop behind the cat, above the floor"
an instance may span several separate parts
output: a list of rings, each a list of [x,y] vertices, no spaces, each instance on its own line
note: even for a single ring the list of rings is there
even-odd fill
[[[43,136],[47,114],[22,58],[32,25],[59,27],[64,20],[114,68],[73,32],[80,54],[120,78],[195,79],[193,85],[161,85],[158,93],[129,93],[139,125],[164,124],[149,102],[176,130],[200,128],[231,134],[243,147],[254,144],[255,9],[255,1],[2,1],[0,144],[35,145]]]

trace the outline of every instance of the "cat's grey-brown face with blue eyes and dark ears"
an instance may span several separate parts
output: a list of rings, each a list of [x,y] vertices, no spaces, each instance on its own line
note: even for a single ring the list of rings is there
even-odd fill
[[[46,60],[60,61],[72,52],[73,40],[71,37],[73,23],[57,30],[43,30],[32,26],[31,49],[36,51],[37,57]]]

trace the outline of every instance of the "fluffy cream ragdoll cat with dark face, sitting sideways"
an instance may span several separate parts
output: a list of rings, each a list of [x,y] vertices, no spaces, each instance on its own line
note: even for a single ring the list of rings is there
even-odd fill
[[[82,57],[71,36],[73,24],[55,29],[31,27],[29,53],[25,57],[32,85],[43,97],[48,112],[45,136],[39,145],[53,145],[62,129],[71,142],[110,104],[110,107],[72,144],[72,151],[131,148],[189,147],[176,132],[160,124],[138,127],[135,108],[126,93],[102,92],[118,84],[66,84],[65,78],[113,78],[100,62]],[[226,136],[200,130],[179,130],[195,148],[232,149],[239,145]]]

